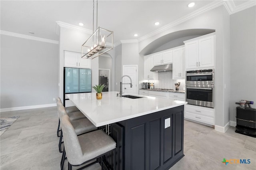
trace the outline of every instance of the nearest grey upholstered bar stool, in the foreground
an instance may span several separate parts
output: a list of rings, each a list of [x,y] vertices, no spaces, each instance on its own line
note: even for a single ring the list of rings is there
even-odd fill
[[[68,170],[72,170],[72,166],[83,165],[91,160],[113,152],[114,170],[116,169],[116,142],[104,131],[96,130],[77,136],[67,115],[62,117],[61,127],[64,139],[64,156],[62,156],[62,158],[67,156]],[[91,164],[88,164],[82,168],[90,165]]]

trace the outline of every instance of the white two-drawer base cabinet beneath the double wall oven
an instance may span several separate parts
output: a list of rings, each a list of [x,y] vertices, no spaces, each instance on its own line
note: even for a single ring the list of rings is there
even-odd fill
[[[195,105],[185,105],[185,118],[214,125],[214,109]]]

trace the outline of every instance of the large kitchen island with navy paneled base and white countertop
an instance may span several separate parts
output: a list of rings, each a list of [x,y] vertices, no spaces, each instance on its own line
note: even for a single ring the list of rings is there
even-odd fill
[[[117,93],[103,92],[101,100],[96,93],[66,96],[96,127],[107,125],[117,142],[119,170],[167,169],[178,162],[184,156],[186,102],[140,95],[130,99]]]

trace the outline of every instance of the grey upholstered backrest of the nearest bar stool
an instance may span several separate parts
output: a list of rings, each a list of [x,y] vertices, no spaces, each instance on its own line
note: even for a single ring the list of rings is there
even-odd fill
[[[80,142],[68,115],[64,115],[60,123],[68,162],[76,165],[78,164],[77,161],[83,156]]]

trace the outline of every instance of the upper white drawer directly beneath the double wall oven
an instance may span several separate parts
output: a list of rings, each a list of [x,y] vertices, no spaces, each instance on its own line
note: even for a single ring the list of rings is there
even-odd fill
[[[185,105],[186,112],[194,113],[196,115],[203,115],[207,117],[214,117],[214,109],[200,107],[200,106],[193,106],[193,105]]]

